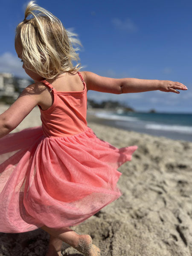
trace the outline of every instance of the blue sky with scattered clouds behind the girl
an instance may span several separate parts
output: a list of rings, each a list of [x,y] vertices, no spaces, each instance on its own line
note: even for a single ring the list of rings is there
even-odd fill
[[[15,27],[26,0],[2,0],[0,72],[26,77],[14,48]],[[89,91],[96,100],[119,100],[138,111],[192,113],[191,0],[38,0],[83,45],[83,70],[113,78],[180,81],[188,91],[108,94]]]

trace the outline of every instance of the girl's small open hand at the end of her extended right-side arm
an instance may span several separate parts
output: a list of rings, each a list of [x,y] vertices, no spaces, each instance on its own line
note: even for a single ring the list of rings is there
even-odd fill
[[[167,93],[168,92],[180,93],[177,90],[187,90],[187,87],[184,84],[181,84],[179,82],[161,80],[159,85],[159,90]]]

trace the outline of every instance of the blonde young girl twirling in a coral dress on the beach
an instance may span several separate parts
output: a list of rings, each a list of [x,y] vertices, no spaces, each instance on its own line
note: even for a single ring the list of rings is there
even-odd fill
[[[137,146],[118,149],[96,137],[86,122],[87,90],[179,93],[187,88],[173,81],[80,73],[80,66],[72,63],[78,60],[72,36],[34,2],[17,26],[15,49],[35,82],[0,115],[0,232],[41,227],[50,234],[47,256],[61,255],[62,241],[86,256],[98,256],[91,237],[70,226],[119,198],[117,169],[131,160]],[[9,134],[36,105],[42,127]]]

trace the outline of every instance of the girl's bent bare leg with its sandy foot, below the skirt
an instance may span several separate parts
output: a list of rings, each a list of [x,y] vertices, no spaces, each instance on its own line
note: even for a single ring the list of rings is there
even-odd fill
[[[70,228],[55,229],[43,226],[41,227],[51,236],[64,241],[70,246],[74,247],[84,256],[100,256],[100,250],[94,244],[89,235],[79,235]]]

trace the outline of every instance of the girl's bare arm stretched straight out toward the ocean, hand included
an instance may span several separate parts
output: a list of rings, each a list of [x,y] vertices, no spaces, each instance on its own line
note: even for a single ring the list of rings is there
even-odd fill
[[[147,80],[137,78],[114,79],[98,76],[92,72],[82,72],[87,90],[104,93],[140,93],[152,90],[179,93],[177,90],[187,90],[184,84],[167,80]]]

